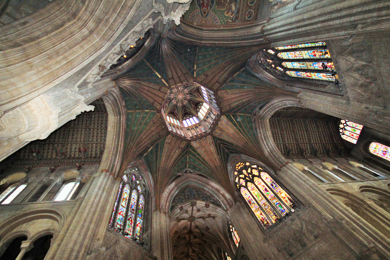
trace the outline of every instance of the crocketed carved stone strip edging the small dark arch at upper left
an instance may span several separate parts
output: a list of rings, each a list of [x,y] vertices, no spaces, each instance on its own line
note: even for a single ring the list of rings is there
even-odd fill
[[[154,21],[152,18],[145,19],[139,23],[128,37],[106,56],[105,60],[97,65],[92,72],[87,76],[86,81],[89,82],[88,87],[92,88],[92,83],[101,78],[101,75],[108,71],[113,64],[117,64],[117,60],[122,56],[131,45],[136,45],[136,41],[145,35],[145,33],[153,28]]]

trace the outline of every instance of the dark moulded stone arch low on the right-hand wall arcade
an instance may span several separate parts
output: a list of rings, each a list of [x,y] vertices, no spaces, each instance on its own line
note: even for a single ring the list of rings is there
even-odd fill
[[[386,237],[390,237],[390,219],[382,212],[378,212],[366,201],[358,196],[338,188],[329,188],[327,191],[349,207],[357,216],[369,223]]]

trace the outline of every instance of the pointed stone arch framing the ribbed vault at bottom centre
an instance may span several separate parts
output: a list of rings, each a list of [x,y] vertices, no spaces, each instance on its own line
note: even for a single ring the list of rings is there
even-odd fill
[[[186,174],[174,180],[167,186],[161,196],[160,208],[162,212],[170,212],[172,200],[176,194],[186,187],[196,187],[206,194],[211,195],[220,202],[224,210],[228,210],[233,205],[233,198],[218,183],[195,173]]]

